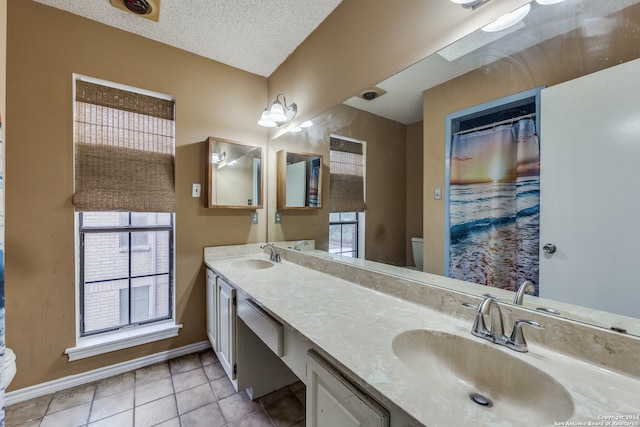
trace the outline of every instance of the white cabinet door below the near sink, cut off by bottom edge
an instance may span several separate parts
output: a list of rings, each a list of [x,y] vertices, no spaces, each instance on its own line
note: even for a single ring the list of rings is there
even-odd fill
[[[388,427],[389,413],[349,384],[338,371],[313,351],[307,359],[308,427]]]

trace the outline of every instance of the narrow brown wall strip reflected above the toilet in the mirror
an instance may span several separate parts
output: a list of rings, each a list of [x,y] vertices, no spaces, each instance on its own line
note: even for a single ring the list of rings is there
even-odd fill
[[[407,265],[413,261],[412,237],[422,237],[423,123],[407,126]]]

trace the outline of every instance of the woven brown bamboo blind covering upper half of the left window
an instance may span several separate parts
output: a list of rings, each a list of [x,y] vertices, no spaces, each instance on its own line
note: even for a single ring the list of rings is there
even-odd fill
[[[174,212],[173,100],[76,80],[77,211]]]

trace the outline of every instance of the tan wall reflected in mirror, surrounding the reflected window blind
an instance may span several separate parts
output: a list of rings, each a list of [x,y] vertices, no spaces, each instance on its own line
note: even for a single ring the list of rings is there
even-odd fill
[[[324,163],[323,208],[286,210],[282,224],[273,224],[276,175],[272,168],[268,190],[269,240],[315,239],[316,248],[328,249],[331,135],[366,142],[365,258],[405,265],[406,126],[342,104],[318,116],[313,127],[303,133],[283,135],[269,144],[270,164],[275,163],[275,152],[283,148],[322,154]]]

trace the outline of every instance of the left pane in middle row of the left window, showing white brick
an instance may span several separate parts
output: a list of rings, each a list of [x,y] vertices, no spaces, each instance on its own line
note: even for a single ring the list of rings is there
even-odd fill
[[[84,235],[84,282],[122,279],[129,276],[129,253],[121,242],[128,233],[88,233]]]

